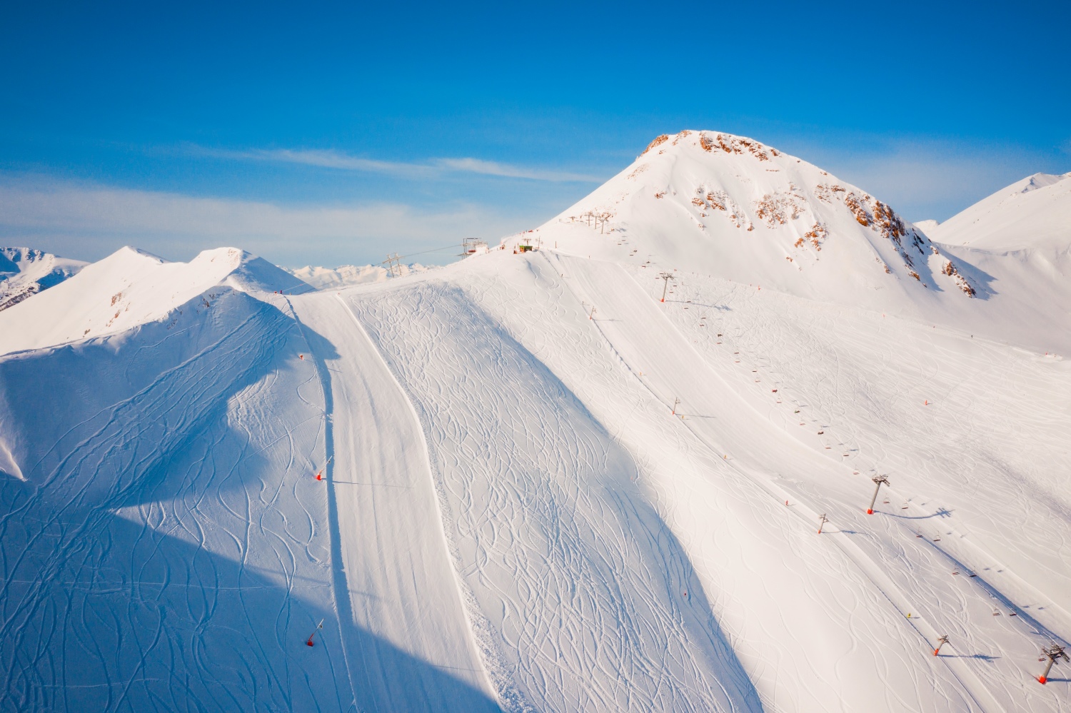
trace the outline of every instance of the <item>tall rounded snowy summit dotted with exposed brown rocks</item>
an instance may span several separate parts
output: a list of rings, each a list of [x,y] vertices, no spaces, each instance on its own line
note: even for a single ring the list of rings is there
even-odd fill
[[[888,308],[969,300],[972,280],[888,204],[758,141],[684,131],[538,230],[543,245]],[[534,238],[536,236],[533,236]]]

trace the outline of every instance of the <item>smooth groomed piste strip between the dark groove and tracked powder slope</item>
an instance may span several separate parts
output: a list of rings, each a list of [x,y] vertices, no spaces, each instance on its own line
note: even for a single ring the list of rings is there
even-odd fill
[[[426,450],[413,447],[422,438],[416,412],[342,300],[292,302],[330,395],[322,487],[358,708],[497,710],[451,596]]]

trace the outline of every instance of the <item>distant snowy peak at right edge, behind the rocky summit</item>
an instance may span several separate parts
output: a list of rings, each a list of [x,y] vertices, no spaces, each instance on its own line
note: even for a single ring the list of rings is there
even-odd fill
[[[1035,173],[929,229],[949,245],[1007,252],[1071,248],[1071,172]]]

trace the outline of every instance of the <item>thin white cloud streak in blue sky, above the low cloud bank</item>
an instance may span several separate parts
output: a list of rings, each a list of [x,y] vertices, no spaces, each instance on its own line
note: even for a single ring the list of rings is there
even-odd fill
[[[549,181],[554,183],[601,183],[605,180],[605,177],[600,178],[588,173],[514,166],[468,157],[429,158],[424,163],[408,163],[378,161],[375,158],[351,156],[334,150],[317,149],[248,149],[235,151],[231,149],[210,149],[195,146],[188,147],[188,151],[197,155],[215,158],[301,164],[304,166],[318,166],[320,168],[347,171],[389,173],[409,179],[443,178],[451,173],[477,173],[529,181]]]

